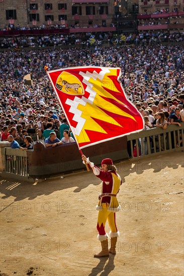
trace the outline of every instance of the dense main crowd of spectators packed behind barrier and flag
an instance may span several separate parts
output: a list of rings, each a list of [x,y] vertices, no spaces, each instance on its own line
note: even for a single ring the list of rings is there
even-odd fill
[[[12,135],[20,147],[28,136],[43,137],[47,142],[49,138],[46,144],[54,141],[55,146],[60,141],[60,144],[74,141],[70,139],[72,133],[43,69],[45,65],[49,69],[89,65],[120,67],[120,81],[127,98],[142,113],[146,129],[164,128],[168,123],[180,125],[184,121],[183,57],[181,45],[34,49],[11,54],[4,51],[0,68],[1,139],[8,141]],[[23,80],[29,73],[33,77],[32,86]]]

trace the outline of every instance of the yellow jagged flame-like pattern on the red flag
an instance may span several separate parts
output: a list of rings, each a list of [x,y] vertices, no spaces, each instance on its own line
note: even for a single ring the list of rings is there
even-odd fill
[[[101,110],[98,106],[102,107],[103,109],[106,109],[110,112],[113,112],[115,114],[120,114],[122,116],[127,116],[132,118],[133,120],[135,120],[135,118],[131,115],[129,115],[128,113],[126,113],[125,111],[123,111],[122,109],[120,109],[119,107],[117,107],[116,105],[104,100],[101,96],[107,97],[107,98],[111,98],[111,99],[115,99],[117,102],[122,103],[121,101],[117,100],[114,96],[112,96],[108,91],[106,91],[102,86],[105,86],[108,89],[113,90],[114,92],[119,92],[120,91],[117,90],[117,88],[115,87],[113,81],[109,78],[109,76],[117,76],[117,69],[113,69],[110,70],[110,73],[106,73],[103,81],[100,79],[93,79],[90,78],[88,80],[88,82],[90,82],[91,84],[93,84],[93,90],[95,92],[97,92],[93,105],[90,103],[86,103],[85,106],[79,104],[78,105],[78,109],[82,111],[81,117],[83,117],[85,119],[85,123],[84,126],[82,128],[82,131],[80,132],[79,136],[76,135],[77,141],[78,143],[84,143],[84,142],[89,142],[89,137],[86,134],[85,130],[94,130],[94,131],[98,131],[101,133],[107,133],[105,131],[105,129],[103,128],[103,126],[100,126],[96,121],[94,121],[93,118],[97,118],[97,119],[101,119],[102,121],[104,121],[104,123],[108,122],[108,123],[112,123],[113,125],[117,125],[118,127],[122,127],[113,117],[109,116],[107,113],[105,113],[103,110]]]

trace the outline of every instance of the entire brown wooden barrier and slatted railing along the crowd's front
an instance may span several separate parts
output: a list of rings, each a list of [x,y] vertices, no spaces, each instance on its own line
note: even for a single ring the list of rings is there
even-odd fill
[[[108,157],[114,162],[129,158],[137,159],[181,151],[184,149],[183,145],[184,122],[181,126],[168,125],[166,130],[160,127],[142,130],[116,139],[116,143],[115,140],[111,140],[82,151],[84,155],[91,158],[91,161],[99,165],[102,159]],[[31,151],[2,147],[1,157],[4,164],[1,169],[2,177],[5,178],[33,180],[84,170],[76,143],[60,145],[57,148],[45,148],[39,142]]]

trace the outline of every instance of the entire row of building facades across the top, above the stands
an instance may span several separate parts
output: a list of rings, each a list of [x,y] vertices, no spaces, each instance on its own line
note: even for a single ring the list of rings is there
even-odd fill
[[[10,24],[68,32],[183,31],[184,0],[0,0],[0,29]]]

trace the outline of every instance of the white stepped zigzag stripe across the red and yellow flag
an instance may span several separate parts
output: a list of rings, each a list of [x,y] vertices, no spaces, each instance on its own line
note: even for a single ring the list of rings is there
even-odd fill
[[[96,71],[94,71],[94,73],[90,73],[90,72],[79,72],[79,74],[83,77],[83,83],[87,85],[86,87],[86,91],[89,93],[89,97],[85,98],[84,96],[82,96],[81,98],[79,97],[74,97],[73,100],[67,99],[66,100],[66,104],[70,105],[70,109],[69,112],[73,113],[73,120],[77,122],[76,127],[72,127],[72,131],[74,132],[75,135],[79,135],[84,123],[86,121],[86,119],[81,117],[82,111],[77,109],[78,104],[81,104],[83,106],[86,105],[86,103],[90,103],[93,104],[95,96],[96,96],[96,92],[92,89],[93,88],[93,84],[88,82],[88,80],[90,78],[93,78],[94,80],[97,80],[97,78],[99,78],[100,80],[103,80],[104,76],[106,73],[110,73],[110,70],[108,68],[102,68],[102,71],[98,74]]]

